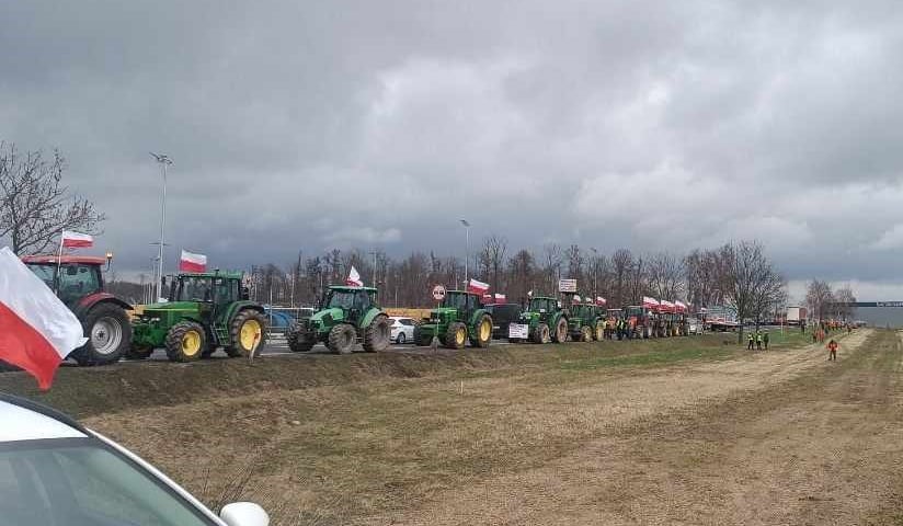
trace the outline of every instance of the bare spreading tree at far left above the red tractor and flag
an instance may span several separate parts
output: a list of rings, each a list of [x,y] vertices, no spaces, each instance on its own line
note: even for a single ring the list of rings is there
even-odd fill
[[[106,217],[94,204],[69,194],[62,185],[66,160],[54,150],[20,155],[15,145],[0,142],[0,238],[9,238],[16,254],[44,252],[64,228],[99,233]]]

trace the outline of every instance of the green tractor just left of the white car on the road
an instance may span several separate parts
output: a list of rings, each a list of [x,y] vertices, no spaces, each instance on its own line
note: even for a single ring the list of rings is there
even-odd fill
[[[368,353],[385,351],[390,336],[389,317],[379,308],[375,288],[331,286],[320,310],[299,319],[286,338],[296,353],[323,342],[333,353],[348,354],[358,341]]]

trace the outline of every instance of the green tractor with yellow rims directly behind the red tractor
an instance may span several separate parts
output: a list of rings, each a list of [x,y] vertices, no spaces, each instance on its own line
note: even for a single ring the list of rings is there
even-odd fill
[[[183,273],[169,301],[152,304],[133,321],[133,359],[164,347],[173,362],[192,362],[220,346],[230,357],[259,354],[266,341],[263,307],[248,299],[241,272]]]

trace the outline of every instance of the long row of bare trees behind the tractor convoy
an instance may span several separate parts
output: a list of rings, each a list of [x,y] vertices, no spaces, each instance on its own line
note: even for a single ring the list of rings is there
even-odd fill
[[[594,249],[550,243],[538,252],[510,250],[503,237],[490,236],[472,255],[470,277],[490,284],[519,302],[529,290],[556,294],[560,278],[578,279],[586,296],[603,296],[609,306],[641,301],[643,296],[684,300],[694,307],[730,305],[741,319],[764,319],[786,301],[786,281],[757,242],[728,243],[688,254],[638,254],[617,249],[610,255]],[[254,266],[255,299],[274,305],[313,305],[330,284],[344,283],[351,267],[366,285],[380,289],[385,306],[427,307],[434,284],[465,286],[464,261],[412,252],[392,259],[385,252],[340,251],[305,256],[288,265]]]

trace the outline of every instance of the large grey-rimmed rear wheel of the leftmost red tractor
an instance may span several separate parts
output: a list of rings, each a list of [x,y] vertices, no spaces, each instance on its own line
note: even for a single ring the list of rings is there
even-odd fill
[[[132,324],[118,305],[95,305],[81,325],[88,342],[70,354],[79,365],[113,364],[132,347]]]

